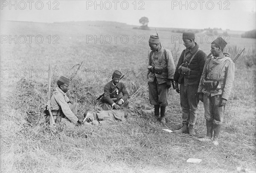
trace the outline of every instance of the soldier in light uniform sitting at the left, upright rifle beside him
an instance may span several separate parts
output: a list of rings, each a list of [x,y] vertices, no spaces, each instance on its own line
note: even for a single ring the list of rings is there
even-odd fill
[[[76,116],[78,105],[67,97],[66,92],[69,89],[69,83],[70,79],[65,76],[60,76],[57,81],[58,87],[56,87],[55,91],[52,93],[51,107],[55,121],[57,119],[57,121],[60,121],[61,125],[73,128],[78,124],[82,124],[83,120]]]

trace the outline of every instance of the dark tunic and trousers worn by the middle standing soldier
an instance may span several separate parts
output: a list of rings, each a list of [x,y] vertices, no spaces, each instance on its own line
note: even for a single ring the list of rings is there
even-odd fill
[[[182,78],[180,79],[180,106],[182,109],[183,124],[195,125],[196,110],[199,102],[197,100],[198,85],[204,69],[204,63],[207,59],[207,55],[202,50],[198,49],[199,45],[195,43],[192,49],[183,50],[174,74],[175,81],[179,81],[179,78]],[[189,62],[193,55],[195,56],[188,66],[188,68],[192,70],[190,75],[180,75],[178,72],[179,66]]]

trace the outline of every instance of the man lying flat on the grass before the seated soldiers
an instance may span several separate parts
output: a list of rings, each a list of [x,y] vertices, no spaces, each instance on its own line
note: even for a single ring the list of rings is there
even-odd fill
[[[84,113],[84,121],[94,125],[99,124],[114,124],[117,121],[125,121],[128,115],[137,115],[152,113],[154,110],[133,111],[129,109],[123,110],[103,110],[103,111],[88,111]]]

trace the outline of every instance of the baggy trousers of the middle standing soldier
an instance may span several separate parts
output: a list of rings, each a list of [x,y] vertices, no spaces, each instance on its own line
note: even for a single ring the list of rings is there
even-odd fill
[[[182,109],[182,123],[195,125],[198,85],[184,86],[180,84],[180,106]]]

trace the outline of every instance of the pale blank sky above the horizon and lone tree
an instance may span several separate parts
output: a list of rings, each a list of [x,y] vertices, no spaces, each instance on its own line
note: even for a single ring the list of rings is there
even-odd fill
[[[256,0],[1,0],[0,19],[31,22],[105,20],[149,27],[256,29]]]

